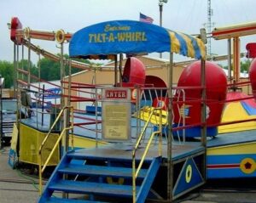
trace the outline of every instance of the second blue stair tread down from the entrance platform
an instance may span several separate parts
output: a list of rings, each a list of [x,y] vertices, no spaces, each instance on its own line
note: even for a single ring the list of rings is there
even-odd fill
[[[113,178],[132,178],[132,169],[127,167],[116,167],[116,166],[94,166],[84,165],[77,166],[69,164],[67,167],[58,170],[63,174],[70,175],[86,175],[86,176],[102,176],[102,177],[113,177]],[[137,178],[145,178],[148,170],[141,169]]]

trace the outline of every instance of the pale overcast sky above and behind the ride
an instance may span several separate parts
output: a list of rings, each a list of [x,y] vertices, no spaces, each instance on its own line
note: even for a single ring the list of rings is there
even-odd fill
[[[255,0],[212,0],[211,8],[213,27],[256,21]],[[0,0],[0,10],[0,60],[7,61],[14,59],[14,45],[9,39],[7,25],[12,17],[18,17],[23,28],[63,29],[71,33],[108,20],[139,20],[140,12],[153,18],[155,25],[160,24],[159,0]],[[207,23],[207,0],[168,0],[163,5],[162,16],[164,27],[198,34]],[[60,53],[56,42],[32,42],[53,54]],[[247,42],[256,42],[256,37],[241,37],[241,52],[246,52]],[[212,39],[212,54],[227,54],[226,44],[226,40]],[[65,45],[66,54],[67,50],[68,44]],[[168,59],[167,54],[163,57]],[[38,55],[32,54],[34,63],[37,59]]]

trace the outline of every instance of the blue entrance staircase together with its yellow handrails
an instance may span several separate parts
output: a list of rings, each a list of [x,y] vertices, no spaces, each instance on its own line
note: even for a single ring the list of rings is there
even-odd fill
[[[155,111],[160,111],[161,115],[160,109],[151,110],[148,121],[139,138],[137,138],[135,146],[129,150],[113,149],[111,144],[107,144],[91,149],[68,151],[61,158],[59,165],[56,166],[38,202],[125,201],[143,203],[148,197],[162,161],[161,116],[160,130],[152,133],[147,143],[142,143],[143,137],[146,136],[148,123]],[[69,129],[73,129],[73,125],[67,127],[67,130]],[[152,141],[156,135],[159,135],[158,152],[154,155],[148,155],[148,150],[152,146]],[[61,137],[62,135],[56,144],[59,143]],[[45,140],[40,149],[44,146]],[[39,150],[39,155],[42,154],[40,152],[41,150]],[[147,155],[148,157],[146,157]],[[39,166],[40,180],[45,166],[42,169],[42,166]],[[40,187],[40,192],[42,190],[42,187]]]

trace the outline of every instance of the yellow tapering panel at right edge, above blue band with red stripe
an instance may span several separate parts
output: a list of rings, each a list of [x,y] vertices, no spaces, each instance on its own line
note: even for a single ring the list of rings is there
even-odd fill
[[[207,148],[207,155],[256,154],[256,142]]]

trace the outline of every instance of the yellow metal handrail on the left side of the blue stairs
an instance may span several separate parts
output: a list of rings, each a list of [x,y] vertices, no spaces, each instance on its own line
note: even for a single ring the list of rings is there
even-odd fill
[[[49,135],[50,133],[52,133],[55,125],[57,124],[57,122],[61,119],[61,116],[63,115],[64,111],[66,109],[69,109],[70,110],[70,115],[71,115],[71,121],[70,123],[68,124],[69,127],[64,127],[63,130],[61,131],[61,134],[59,136],[59,138],[57,138],[56,142],[55,142],[55,145],[53,147],[53,149],[51,149],[50,153],[49,153],[49,156],[48,158],[46,159],[46,161],[44,162],[44,164],[42,163],[42,149],[44,147],[44,144],[46,143],[46,141],[48,140],[49,138]],[[60,144],[60,141],[61,141],[61,138],[63,137],[64,134],[67,133],[67,130],[73,130],[73,106],[64,106],[63,109],[60,111],[59,115],[56,117],[54,123],[52,124],[52,126],[49,128],[49,132],[46,134],[42,144],[40,145],[39,149],[38,149],[38,159],[39,159],[39,194],[42,195],[42,190],[43,190],[43,173],[44,173],[44,170],[46,168],[46,166],[48,165],[52,155],[54,154],[54,151],[55,149],[57,148],[58,144]],[[73,139],[73,136],[72,136],[72,139]],[[73,140],[72,140],[72,148],[73,148]],[[42,167],[43,166],[43,167]]]

